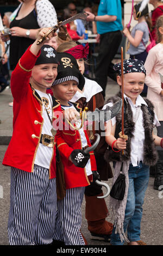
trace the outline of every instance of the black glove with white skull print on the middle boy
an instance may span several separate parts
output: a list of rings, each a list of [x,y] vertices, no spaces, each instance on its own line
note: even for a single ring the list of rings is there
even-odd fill
[[[70,157],[75,166],[84,168],[90,159],[90,154],[85,153],[83,149],[74,149]]]

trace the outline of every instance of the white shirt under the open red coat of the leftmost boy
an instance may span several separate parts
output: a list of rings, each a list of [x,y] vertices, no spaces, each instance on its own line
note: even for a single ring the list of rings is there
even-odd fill
[[[43,118],[43,126],[42,126],[42,134],[52,135],[52,124],[51,121],[48,118],[48,114],[46,112],[46,109],[49,113],[49,117],[52,120],[52,96],[51,94],[42,93],[40,90],[35,90],[39,96],[41,97],[41,100],[43,102],[42,105],[42,118]],[[53,154],[53,148],[49,148],[42,143],[39,144],[39,147],[37,149],[36,158],[35,158],[35,164],[45,167],[49,169],[50,162],[52,159]]]

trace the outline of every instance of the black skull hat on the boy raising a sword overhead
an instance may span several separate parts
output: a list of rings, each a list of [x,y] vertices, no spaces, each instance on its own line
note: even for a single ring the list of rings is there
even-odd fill
[[[35,65],[55,63],[58,64],[58,53],[50,45],[43,45],[41,47],[40,56],[37,58]]]

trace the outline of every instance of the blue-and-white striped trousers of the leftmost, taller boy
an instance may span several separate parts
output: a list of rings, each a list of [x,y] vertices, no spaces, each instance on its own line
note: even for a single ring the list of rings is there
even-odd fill
[[[55,179],[49,170],[34,166],[28,173],[11,167],[8,237],[10,245],[52,243],[57,210]]]

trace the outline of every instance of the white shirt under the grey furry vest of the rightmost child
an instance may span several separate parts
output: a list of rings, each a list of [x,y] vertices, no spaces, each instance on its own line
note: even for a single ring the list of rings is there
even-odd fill
[[[129,97],[127,97],[124,94],[124,99],[128,99],[128,103],[131,106],[131,111],[133,112],[133,118],[136,117],[136,112],[139,111],[138,106],[141,106],[142,104],[145,104],[146,106],[147,103],[146,101],[139,95],[137,96],[136,103],[135,105],[131,101]],[[103,109],[106,108],[106,106],[113,106],[113,104],[110,102],[106,105],[104,105]],[[112,126],[116,124],[116,117],[111,119]],[[158,121],[158,118],[155,115],[154,118],[154,125],[159,126],[160,123]],[[142,161],[143,162],[143,144],[145,140],[145,129],[143,127],[143,112],[140,109],[139,116],[137,117],[136,123],[135,123],[135,130],[133,133],[133,138],[131,138],[131,154],[130,154],[130,161],[133,164],[133,166],[137,166],[137,164]]]

